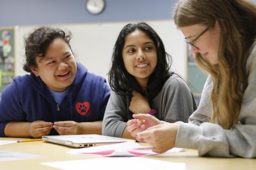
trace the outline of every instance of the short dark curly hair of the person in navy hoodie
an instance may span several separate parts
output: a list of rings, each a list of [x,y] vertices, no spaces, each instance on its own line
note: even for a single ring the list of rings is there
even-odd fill
[[[71,49],[70,32],[66,35],[63,30],[49,26],[41,26],[34,29],[34,31],[25,38],[26,63],[23,65],[23,70],[31,72],[31,66],[35,66],[37,68],[36,57],[39,56],[44,58],[47,48],[56,38],[63,39]]]

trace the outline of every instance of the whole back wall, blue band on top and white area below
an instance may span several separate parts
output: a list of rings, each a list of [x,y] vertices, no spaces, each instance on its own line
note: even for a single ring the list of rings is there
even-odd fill
[[[71,46],[89,71],[107,79],[112,50],[121,28],[135,21],[147,21],[163,39],[173,57],[172,69],[186,78],[186,45],[172,21],[176,0],[106,0],[98,15],[89,14],[86,0],[2,0],[0,27],[15,26],[15,75],[26,73],[24,35],[38,25],[70,30]],[[11,9],[11,11],[10,11]]]

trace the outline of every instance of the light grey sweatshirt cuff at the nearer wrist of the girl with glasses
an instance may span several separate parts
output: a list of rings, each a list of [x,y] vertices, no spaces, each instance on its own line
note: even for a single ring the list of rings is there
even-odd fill
[[[176,123],[179,124],[179,129],[176,135],[175,147],[197,150],[201,128],[193,123]]]

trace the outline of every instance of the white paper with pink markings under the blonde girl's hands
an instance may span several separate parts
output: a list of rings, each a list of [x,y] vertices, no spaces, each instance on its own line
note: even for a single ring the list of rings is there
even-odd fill
[[[172,148],[165,153],[174,153],[184,151],[182,148]],[[73,149],[67,153],[71,154],[89,154],[94,156],[105,157],[137,157],[137,156],[149,156],[155,153],[151,150],[151,146],[142,146],[134,141],[101,145],[93,147],[84,147],[81,149]]]

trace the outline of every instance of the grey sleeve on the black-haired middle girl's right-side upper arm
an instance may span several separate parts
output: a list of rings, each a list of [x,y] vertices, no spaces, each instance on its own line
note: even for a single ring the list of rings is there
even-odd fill
[[[156,117],[165,122],[188,122],[196,110],[196,102],[186,83],[178,75],[172,75],[153,100],[151,107],[158,109]]]

